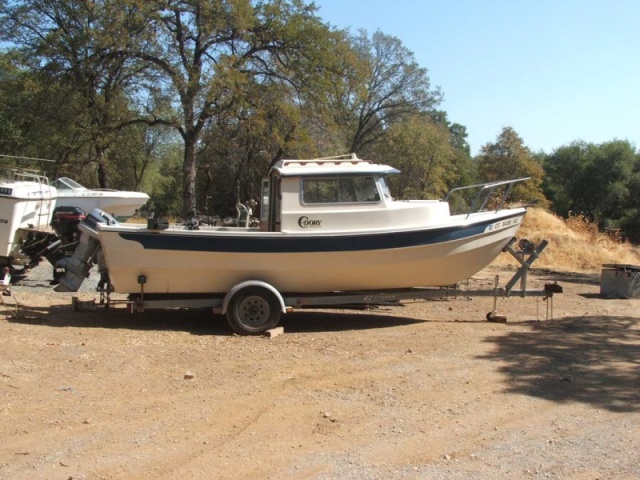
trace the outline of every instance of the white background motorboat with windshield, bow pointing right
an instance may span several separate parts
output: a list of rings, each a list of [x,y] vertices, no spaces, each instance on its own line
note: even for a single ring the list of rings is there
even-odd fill
[[[67,177],[58,178],[51,182],[51,185],[58,191],[57,206],[78,207],[85,212],[99,208],[118,221],[125,221],[132,217],[149,200],[149,195],[146,193],[102,188],[89,189]]]

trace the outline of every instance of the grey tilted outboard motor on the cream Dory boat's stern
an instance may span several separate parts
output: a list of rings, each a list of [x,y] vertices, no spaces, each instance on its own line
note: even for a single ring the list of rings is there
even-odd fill
[[[64,261],[66,273],[60,278],[60,284],[55,288],[56,292],[77,292],[84,279],[89,276],[89,270],[96,263],[96,259],[102,258],[97,227],[99,223],[113,225],[117,221],[108,213],[96,208],[80,222],[78,246],[74,254]]]

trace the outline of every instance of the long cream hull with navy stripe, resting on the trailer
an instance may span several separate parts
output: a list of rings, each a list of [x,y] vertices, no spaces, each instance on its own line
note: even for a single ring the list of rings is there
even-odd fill
[[[281,293],[453,285],[482,270],[515,236],[523,208],[452,217],[404,232],[295,235],[252,230],[99,227],[116,292],[225,293],[261,280]],[[379,245],[379,246],[378,246]]]

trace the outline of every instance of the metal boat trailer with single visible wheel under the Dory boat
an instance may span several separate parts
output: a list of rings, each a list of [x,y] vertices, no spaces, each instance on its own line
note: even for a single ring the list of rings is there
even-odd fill
[[[516,247],[517,243],[517,248]],[[138,284],[140,291],[130,294],[127,300],[112,300],[108,282],[102,281],[97,291],[100,293],[99,304],[95,300],[80,301],[72,299],[72,310],[94,310],[98,306],[109,308],[117,303],[126,303],[131,313],[141,313],[148,309],[171,308],[212,308],[216,314],[227,316],[233,330],[241,335],[263,333],[275,327],[282,313],[290,313],[304,308],[354,309],[381,306],[399,306],[404,300],[445,299],[450,297],[493,297],[493,310],[486,315],[488,321],[507,321],[498,313],[498,299],[509,297],[542,297],[547,301],[547,318],[553,318],[553,296],[562,293],[557,283],[547,283],[542,289],[527,288],[527,274],[531,265],[538,259],[548,242],[542,240],[535,245],[528,240],[517,242],[512,238],[503,249],[510,253],[520,264],[513,277],[504,287],[499,286],[496,275],[494,287],[491,289],[462,289],[460,284],[429,287],[406,288],[384,291],[338,291],[318,294],[280,294],[272,285],[259,280],[248,280],[233,287],[226,294],[219,295],[159,295],[145,294],[146,277],[140,275]],[[518,287],[516,287],[516,285]],[[267,318],[268,317],[268,318]]]

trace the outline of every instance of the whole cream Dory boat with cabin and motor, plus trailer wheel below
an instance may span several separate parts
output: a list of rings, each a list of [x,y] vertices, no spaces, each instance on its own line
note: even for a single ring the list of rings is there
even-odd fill
[[[452,215],[442,200],[394,200],[388,165],[355,155],[281,160],[263,180],[259,228],[120,224],[93,211],[58,291],[77,291],[93,263],[111,291],[166,298],[224,296],[240,332],[273,325],[288,294],[449,286],[487,266],[511,241],[523,207]],[[458,190],[458,189],[456,189]]]

